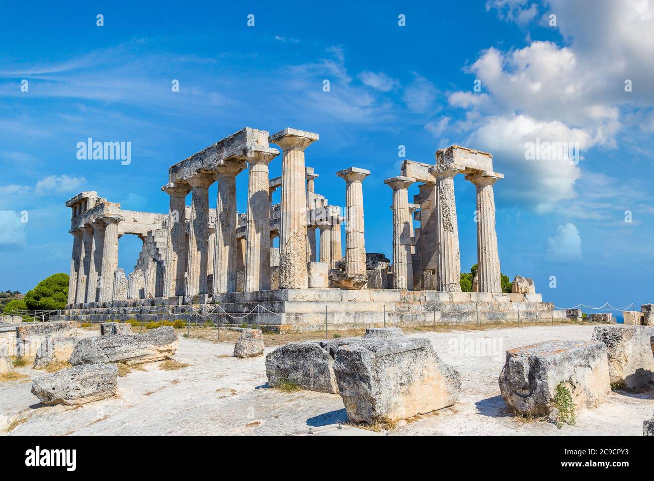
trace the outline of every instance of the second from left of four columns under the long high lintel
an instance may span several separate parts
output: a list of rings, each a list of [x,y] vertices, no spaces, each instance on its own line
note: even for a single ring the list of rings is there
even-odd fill
[[[209,186],[213,176],[195,173],[187,180],[191,186],[191,212],[186,257],[184,294],[207,294],[207,263],[209,262]]]

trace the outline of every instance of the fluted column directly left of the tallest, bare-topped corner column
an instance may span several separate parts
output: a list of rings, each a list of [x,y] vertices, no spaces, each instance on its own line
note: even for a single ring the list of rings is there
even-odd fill
[[[250,151],[247,156],[249,179],[245,230],[245,292],[270,289],[268,164],[277,153]]]

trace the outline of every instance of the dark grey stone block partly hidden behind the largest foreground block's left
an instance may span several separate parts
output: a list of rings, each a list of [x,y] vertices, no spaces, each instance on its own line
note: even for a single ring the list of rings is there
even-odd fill
[[[290,382],[309,391],[338,394],[334,356],[350,338],[289,342],[266,355],[266,376],[271,387]]]

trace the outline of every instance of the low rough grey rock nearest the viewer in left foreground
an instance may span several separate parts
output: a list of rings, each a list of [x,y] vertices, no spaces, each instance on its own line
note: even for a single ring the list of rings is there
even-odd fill
[[[32,394],[48,406],[86,404],[115,395],[117,379],[118,368],[110,364],[75,366],[35,379]]]

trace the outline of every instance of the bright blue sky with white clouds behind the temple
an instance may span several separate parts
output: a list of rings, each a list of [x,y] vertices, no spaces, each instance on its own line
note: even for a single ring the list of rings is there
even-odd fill
[[[64,203],[81,190],[165,213],[168,166],[244,126],[290,126],[320,134],[306,160],[330,204],[345,203],[337,170],[372,171],[368,251],[391,253],[383,180],[399,173],[398,146],[434,162],[436,149],[466,145],[506,175],[495,185],[504,274],[533,277],[560,307],[653,301],[654,3],[116,4],[2,9],[0,290],[68,272]],[[88,137],[131,142],[131,164],[78,160]],[[525,160],[537,137],[577,142],[579,164]],[[279,175],[281,160],[270,169]],[[244,211],[247,175],[237,188]],[[462,176],[455,189],[468,270],[475,194]],[[120,240],[127,271],[140,244],[130,237]]]

